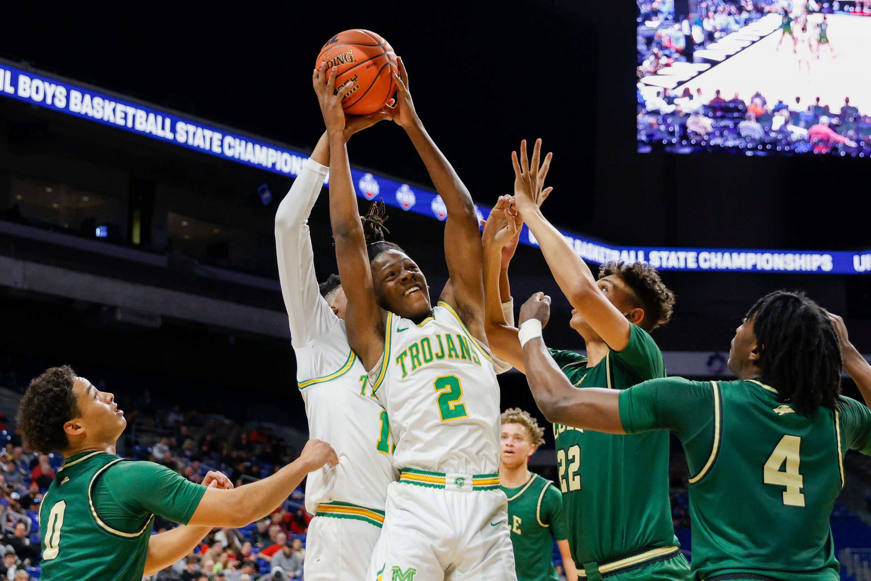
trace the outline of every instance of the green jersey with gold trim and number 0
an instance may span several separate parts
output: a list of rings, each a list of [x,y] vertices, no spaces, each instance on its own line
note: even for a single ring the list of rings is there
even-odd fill
[[[206,487],[152,462],[71,456],[39,507],[43,581],[141,581],[153,517],[187,524]]]

